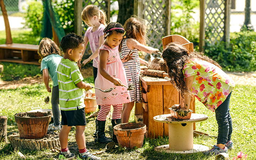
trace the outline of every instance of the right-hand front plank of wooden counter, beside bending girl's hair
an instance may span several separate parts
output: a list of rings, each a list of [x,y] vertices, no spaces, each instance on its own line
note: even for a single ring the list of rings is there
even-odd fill
[[[163,85],[163,109],[164,114],[170,114],[169,108],[180,103],[180,95],[176,88],[172,85]],[[164,123],[164,135],[169,136],[169,125]]]

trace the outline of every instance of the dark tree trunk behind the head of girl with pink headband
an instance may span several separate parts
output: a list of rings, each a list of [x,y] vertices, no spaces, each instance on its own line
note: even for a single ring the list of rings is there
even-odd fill
[[[126,20],[133,15],[134,0],[128,0],[128,1],[117,0],[117,1],[119,6],[117,22],[124,25],[124,22],[126,22]]]

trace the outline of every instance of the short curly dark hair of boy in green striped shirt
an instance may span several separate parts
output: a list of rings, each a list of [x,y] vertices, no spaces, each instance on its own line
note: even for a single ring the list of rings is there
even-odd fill
[[[84,38],[75,33],[68,33],[60,41],[60,48],[62,48],[65,54],[69,49],[77,49],[80,44],[84,44]]]

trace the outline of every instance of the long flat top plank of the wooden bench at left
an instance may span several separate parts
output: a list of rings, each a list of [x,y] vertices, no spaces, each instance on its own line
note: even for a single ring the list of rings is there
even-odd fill
[[[37,51],[38,45],[12,43],[12,44],[0,44],[0,48]]]

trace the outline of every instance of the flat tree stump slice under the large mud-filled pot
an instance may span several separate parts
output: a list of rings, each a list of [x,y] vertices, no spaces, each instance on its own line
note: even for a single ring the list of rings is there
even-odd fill
[[[13,148],[41,150],[41,149],[60,149],[59,134],[48,131],[47,135],[40,139],[20,138],[20,134],[13,133],[8,136]]]

